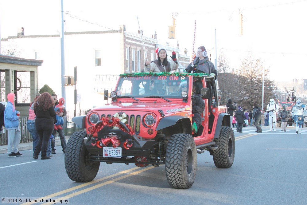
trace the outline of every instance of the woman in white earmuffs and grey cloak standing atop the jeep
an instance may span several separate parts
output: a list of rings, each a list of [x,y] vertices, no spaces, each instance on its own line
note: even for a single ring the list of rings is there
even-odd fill
[[[198,47],[194,61],[191,62],[185,70],[188,73],[207,73],[209,76],[213,76],[217,79],[217,70],[213,63],[209,61],[207,50],[204,46]]]

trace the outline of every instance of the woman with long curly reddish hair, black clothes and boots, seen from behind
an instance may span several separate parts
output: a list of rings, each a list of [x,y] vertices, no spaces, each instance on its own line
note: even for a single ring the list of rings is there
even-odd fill
[[[41,97],[34,101],[34,113],[36,115],[35,129],[39,136],[33,158],[37,160],[41,152],[41,160],[49,160],[47,148],[54,128],[54,101],[49,93],[43,93]]]

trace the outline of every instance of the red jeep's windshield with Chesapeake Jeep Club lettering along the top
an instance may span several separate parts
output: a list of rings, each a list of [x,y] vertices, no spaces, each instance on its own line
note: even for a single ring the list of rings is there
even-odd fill
[[[121,96],[182,98],[181,92],[184,90],[188,92],[188,85],[187,76],[121,77],[115,92],[119,98]]]

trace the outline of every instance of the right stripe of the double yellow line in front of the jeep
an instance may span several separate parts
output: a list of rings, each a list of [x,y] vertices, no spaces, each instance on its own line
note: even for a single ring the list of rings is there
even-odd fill
[[[58,198],[58,199],[63,199],[63,198],[64,198],[64,199],[68,199],[68,198],[71,198],[71,197],[74,197],[74,196],[83,194],[83,193],[85,193],[85,192],[87,192],[87,191],[91,191],[91,190],[93,190],[93,189],[97,189],[97,188],[102,187],[102,186],[104,186],[104,185],[111,184],[111,183],[116,182],[116,181],[118,181],[118,180],[120,180],[120,179],[125,179],[125,178],[127,178],[127,177],[129,177],[129,176],[131,176],[131,175],[137,175],[137,174],[139,174],[139,173],[142,173],[143,171],[147,171],[147,170],[150,170],[150,169],[152,169],[152,168],[155,168],[155,167],[150,166],[150,167],[147,167],[147,168],[143,168],[142,170],[135,171],[135,172],[129,173],[129,174],[124,175],[124,176],[120,176],[120,177],[118,177],[118,178],[116,178],[116,179],[111,179],[111,180],[109,180],[109,181],[106,181],[106,182],[97,184],[97,185],[92,186],[92,187],[88,187],[88,188],[86,188],[86,189],[77,191],[77,192],[75,192],[75,193],[72,193],[72,194],[69,194],[69,195],[60,197],[60,198]],[[51,205],[51,204],[54,204],[54,203],[44,203],[44,204],[45,204],[45,205],[47,205],[47,204]]]

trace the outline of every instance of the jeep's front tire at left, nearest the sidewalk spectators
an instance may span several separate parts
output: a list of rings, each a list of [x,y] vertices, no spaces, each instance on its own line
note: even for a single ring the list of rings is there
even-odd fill
[[[75,182],[89,182],[96,177],[100,162],[87,160],[87,149],[83,138],[85,131],[74,132],[65,149],[65,169],[69,179]]]

